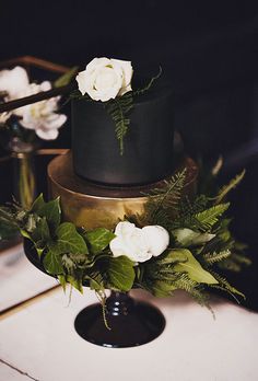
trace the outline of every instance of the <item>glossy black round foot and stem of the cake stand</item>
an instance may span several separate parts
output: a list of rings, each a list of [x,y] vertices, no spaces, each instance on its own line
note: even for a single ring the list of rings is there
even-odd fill
[[[106,320],[109,330],[104,324],[101,303],[89,305],[78,314],[75,331],[90,343],[126,348],[152,342],[165,327],[165,319],[155,307],[121,292],[112,292],[107,299]]]

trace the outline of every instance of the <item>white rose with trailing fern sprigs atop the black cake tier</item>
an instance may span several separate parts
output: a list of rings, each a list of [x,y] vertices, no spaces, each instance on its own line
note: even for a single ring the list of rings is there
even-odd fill
[[[120,154],[124,153],[124,138],[130,126],[129,113],[133,107],[133,99],[149,91],[153,82],[161,76],[151,78],[142,89],[132,89],[132,66],[130,61],[94,58],[84,71],[77,76],[78,90],[71,99],[103,102],[104,107],[114,120],[115,132],[119,141]]]

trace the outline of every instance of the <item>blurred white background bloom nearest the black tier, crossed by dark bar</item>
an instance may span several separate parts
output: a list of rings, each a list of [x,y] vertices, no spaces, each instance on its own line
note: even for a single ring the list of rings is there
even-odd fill
[[[51,89],[50,82],[40,84],[31,83],[26,89],[19,92],[17,97],[37,94]],[[20,116],[20,124],[27,129],[34,129],[40,139],[54,140],[58,137],[58,129],[66,123],[67,116],[57,114],[59,96],[28,104],[14,109]]]

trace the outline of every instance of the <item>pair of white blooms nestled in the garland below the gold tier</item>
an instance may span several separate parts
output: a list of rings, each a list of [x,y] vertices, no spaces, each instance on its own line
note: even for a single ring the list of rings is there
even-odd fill
[[[119,222],[115,229],[116,238],[109,246],[114,256],[126,255],[134,262],[145,262],[162,254],[169,244],[168,232],[159,226],[142,229],[134,223]]]

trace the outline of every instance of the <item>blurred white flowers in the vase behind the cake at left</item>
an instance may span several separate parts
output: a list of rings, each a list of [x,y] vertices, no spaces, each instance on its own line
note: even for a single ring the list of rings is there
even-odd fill
[[[30,82],[24,68],[0,71],[0,101],[10,102],[21,97],[50,90],[49,81]],[[44,140],[58,137],[59,128],[66,123],[67,116],[58,113],[59,96],[32,103],[0,115],[0,126],[10,131],[12,137],[23,142],[32,142],[36,136]]]

